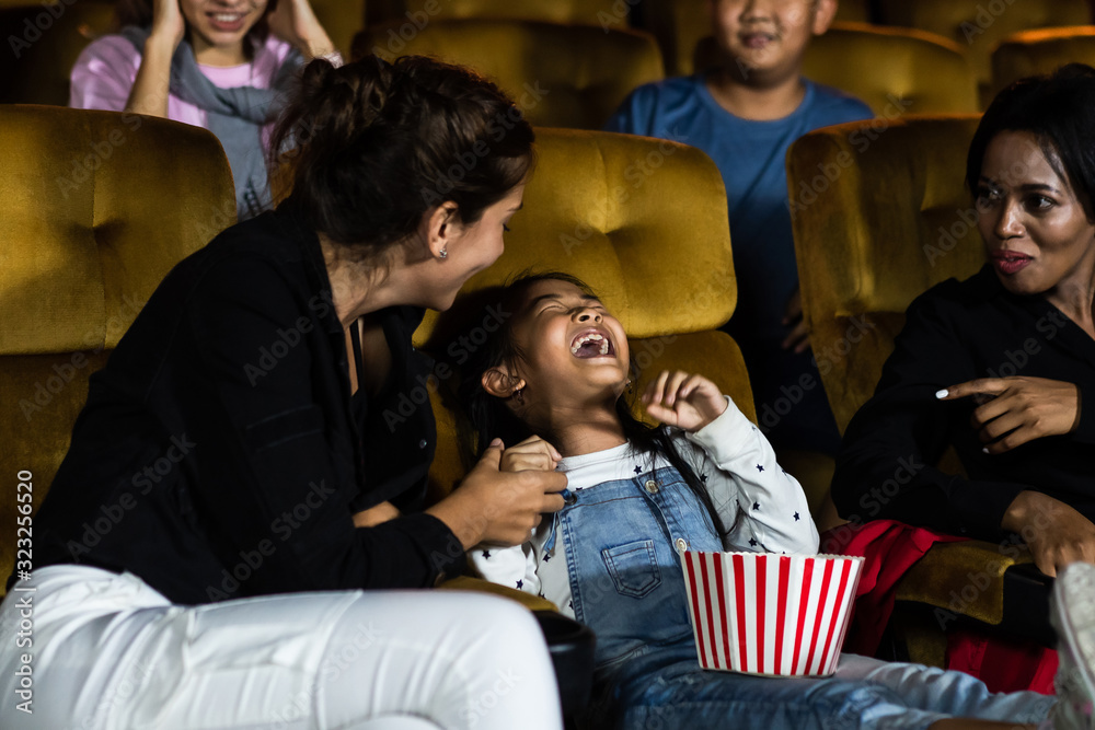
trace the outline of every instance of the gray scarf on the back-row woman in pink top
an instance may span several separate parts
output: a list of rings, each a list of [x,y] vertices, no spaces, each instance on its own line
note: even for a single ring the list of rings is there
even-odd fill
[[[123,37],[141,54],[149,34],[150,28],[135,25],[122,28]],[[209,131],[224,147],[235,181],[235,208],[241,221],[257,216],[269,205],[262,129],[281,111],[284,99],[280,92],[303,65],[303,57],[293,49],[281,63],[269,89],[221,89],[201,73],[194,59],[194,49],[185,38],[171,59],[171,93],[204,109],[208,115]]]

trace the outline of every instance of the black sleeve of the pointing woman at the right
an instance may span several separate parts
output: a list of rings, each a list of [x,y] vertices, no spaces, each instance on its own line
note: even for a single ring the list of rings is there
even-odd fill
[[[937,401],[936,391],[983,375],[964,341],[972,333],[959,333],[955,305],[937,291],[909,306],[874,396],[849,424],[832,498],[841,517],[852,521],[894,519],[998,540],[1007,507],[1033,487],[969,480],[935,467],[954,424],[968,419],[970,410],[968,402]]]

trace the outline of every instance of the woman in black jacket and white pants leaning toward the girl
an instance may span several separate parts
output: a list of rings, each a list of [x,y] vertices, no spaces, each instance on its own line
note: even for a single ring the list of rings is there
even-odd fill
[[[561,723],[523,609],[360,590],[430,587],[563,506],[563,475],[502,474],[496,447],[422,511],[433,414],[403,405],[429,382],[424,308],[502,253],[532,130],[423,58],[301,83],[273,146],[289,198],[176,266],[91,380],[0,609],[0,686],[28,667],[37,700],[5,702],[5,728]]]

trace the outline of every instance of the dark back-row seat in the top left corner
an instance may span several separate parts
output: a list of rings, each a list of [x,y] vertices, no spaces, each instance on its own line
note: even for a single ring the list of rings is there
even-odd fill
[[[55,104],[69,100],[69,74],[83,47],[107,33],[110,0],[21,0],[0,4],[0,104]]]

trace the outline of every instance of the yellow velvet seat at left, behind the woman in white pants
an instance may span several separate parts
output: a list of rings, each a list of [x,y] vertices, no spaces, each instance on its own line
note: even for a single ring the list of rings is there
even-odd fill
[[[41,503],[100,369],[176,262],[235,221],[210,132],[164,119],[0,105],[0,468]],[[0,576],[15,559],[0,495]],[[0,587],[2,592],[2,587]]]

